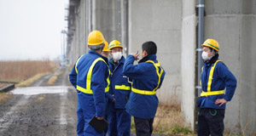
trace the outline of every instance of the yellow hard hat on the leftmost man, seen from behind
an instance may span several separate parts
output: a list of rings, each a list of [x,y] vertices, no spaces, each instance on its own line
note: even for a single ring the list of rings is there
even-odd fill
[[[101,31],[91,31],[88,36],[88,45],[100,45],[105,41]]]

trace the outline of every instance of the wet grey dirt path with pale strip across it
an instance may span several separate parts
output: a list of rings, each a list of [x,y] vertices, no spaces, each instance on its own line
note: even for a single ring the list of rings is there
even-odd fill
[[[11,91],[14,97],[0,104],[1,136],[76,135],[76,91],[67,81],[67,68],[58,71],[64,73],[55,86],[46,85],[46,76]]]

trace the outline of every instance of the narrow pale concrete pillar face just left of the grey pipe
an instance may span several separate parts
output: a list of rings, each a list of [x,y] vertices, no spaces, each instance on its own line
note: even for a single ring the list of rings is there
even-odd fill
[[[181,46],[181,75],[182,75],[182,113],[184,121],[195,128],[195,48],[196,48],[196,17],[195,1],[183,0],[182,15],[182,46]]]

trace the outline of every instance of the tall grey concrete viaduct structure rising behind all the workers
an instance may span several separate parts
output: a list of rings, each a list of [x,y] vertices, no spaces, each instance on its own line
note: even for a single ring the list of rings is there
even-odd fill
[[[121,41],[125,55],[141,51],[143,42],[156,42],[158,59],[166,70],[157,93],[160,103],[181,103],[185,123],[195,129],[196,4],[191,0],[70,0],[70,62],[88,52],[87,36],[92,30],[102,31],[108,42]],[[227,105],[225,130],[255,133],[256,0],[205,0],[205,14],[204,37],[218,40],[220,59],[238,81]]]

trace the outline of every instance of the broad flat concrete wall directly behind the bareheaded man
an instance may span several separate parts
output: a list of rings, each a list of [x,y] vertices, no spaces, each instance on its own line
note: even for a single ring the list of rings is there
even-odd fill
[[[143,42],[154,41],[166,77],[157,95],[160,103],[177,104],[181,98],[182,1],[129,1],[129,53],[141,52]]]

